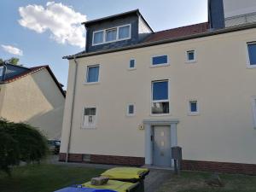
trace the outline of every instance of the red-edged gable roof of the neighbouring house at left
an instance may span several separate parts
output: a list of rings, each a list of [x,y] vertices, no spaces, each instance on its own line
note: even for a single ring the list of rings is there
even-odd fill
[[[24,73],[20,73],[18,75],[15,75],[14,77],[11,77],[9,79],[5,79],[3,81],[3,83],[10,83],[10,82],[13,82],[15,80],[18,80],[18,79],[21,79],[21,78],[24,78],[26,77],[27,75],[29,74],[32,74],[32,73],[37,73],[38,71],[41,71],[43,69],[47,69],[50,76],[52,77],[52,79],[55,81],[55,84],[57,85],[57,87],[61,90],[61,93],[63,96],[66,96],[66,93],[65,91],[62,89],[61,87],[61,84],[58,82],[58,80],[56,79],[54,73],[51,71],[51,69],[49,68],[48,65],[45,65],[45,66],[38,66],[38,67],[31,67],[31,68],[27,68],[28,70]]]

